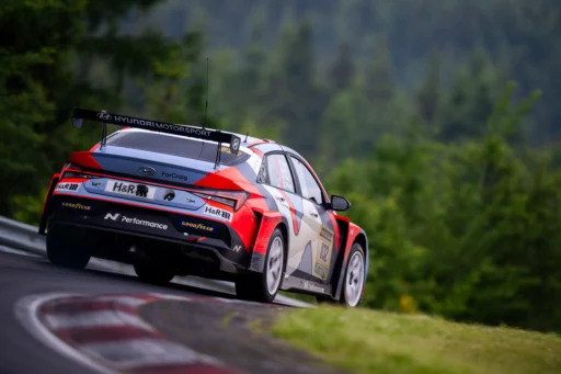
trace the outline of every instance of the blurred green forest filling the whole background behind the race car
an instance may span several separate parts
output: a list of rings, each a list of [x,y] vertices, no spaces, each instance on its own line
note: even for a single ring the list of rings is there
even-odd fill
[[[561,331],[561,2],[4,0],[0,215],[101,136],[71,109],[273,138],[364,227],[364,305]]]

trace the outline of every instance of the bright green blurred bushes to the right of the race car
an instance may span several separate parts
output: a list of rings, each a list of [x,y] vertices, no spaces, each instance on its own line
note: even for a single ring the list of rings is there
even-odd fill
[[[350,216],[369,236],[366,305],[399,310],[411,295],[449,318],[561,329],[551,305],[561,296],[561,172],[508,143],[538,97],[511,107],[508,86],[481,139],[386,137],[333,174],[331,189],[354,200]]]

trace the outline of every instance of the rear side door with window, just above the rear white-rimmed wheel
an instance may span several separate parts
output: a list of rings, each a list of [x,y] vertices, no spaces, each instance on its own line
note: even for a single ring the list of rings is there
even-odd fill
[[[302,220],[302,199],[297,193],[297,185],[288,159],[284,154],[275,152],[265,156],[262,165],[264,186],[275,200],[278,212],[288,225],[288,253],[286,274],[300,276],[299,271],[309,273],[312,264],[302,261],[308,249],[311,252],[316,233]],[[296,273],[295,273],[296,272]]]

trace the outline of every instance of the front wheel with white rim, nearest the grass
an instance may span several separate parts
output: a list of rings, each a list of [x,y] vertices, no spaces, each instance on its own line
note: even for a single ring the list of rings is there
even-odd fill
[[[351,247],[346,262],[343,290],[340,303],[347,307],[357,307],[362,302],[366,261],[363,247],[355,242]]]

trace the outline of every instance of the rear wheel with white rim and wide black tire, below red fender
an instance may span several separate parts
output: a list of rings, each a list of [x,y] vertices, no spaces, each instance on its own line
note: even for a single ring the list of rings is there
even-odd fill
[[[242,276],[236,281],[236,294],[239,298],[271,303],[283,284],[285,270],[285,240],[280,229],[276,228],[268,240],[263,273]]]

